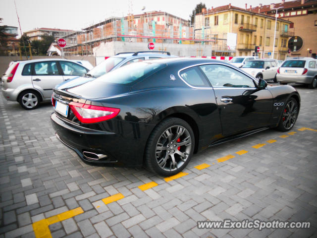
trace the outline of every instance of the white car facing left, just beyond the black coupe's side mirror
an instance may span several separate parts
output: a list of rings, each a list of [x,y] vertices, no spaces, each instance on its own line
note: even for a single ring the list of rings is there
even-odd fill
[[[276,82],[277,60],[250,60],[241,69],[257,79],[273,80]]]

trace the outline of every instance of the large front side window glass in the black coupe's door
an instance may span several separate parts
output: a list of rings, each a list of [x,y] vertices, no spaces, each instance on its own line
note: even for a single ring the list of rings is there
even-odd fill
[[[251,78],[243,73],[220,64],[206,64],[199,66],[209,79],[212,87],[254,88]]]

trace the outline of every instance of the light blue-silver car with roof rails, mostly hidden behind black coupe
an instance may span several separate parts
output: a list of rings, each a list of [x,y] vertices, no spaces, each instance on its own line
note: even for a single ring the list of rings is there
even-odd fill
[[[71,86],[76,86],[78,84],[82,84],[88,81],[92,81],[95,78],[98,78],[107,72],[110,72],[116,68],[122,67],[124,65],[128,65],[134,62],[140,62],[143,60],[156,60],[167,57],[175,57],[171,56],[169,52],[164,51],[140,51],[140,52],[127,52],[127,53],[118,53],[115,56],[109,57],[105,61],[98,64],[96,67],[91,69],[88,73],[86,73],[82,77],[76,77],[67,82],[63,82],[56,86],[56,88],[67,88]]]

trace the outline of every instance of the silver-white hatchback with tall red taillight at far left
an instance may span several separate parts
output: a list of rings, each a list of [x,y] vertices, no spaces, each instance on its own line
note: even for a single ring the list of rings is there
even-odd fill
[[[84,75],[88,68],[64,59],[40,59],[10,63],[2,76],[4,98],[17,101],[26,109],[35,109],[41,101],[50,101],[55,85]]]

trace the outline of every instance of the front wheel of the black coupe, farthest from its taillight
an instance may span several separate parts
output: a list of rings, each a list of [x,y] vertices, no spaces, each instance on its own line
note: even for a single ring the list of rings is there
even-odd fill
[[[298,117],[298,103],[294,98],[290,98],[285,107],[279,120],[276,129],[280,131],[288,131],[294,126]]]

